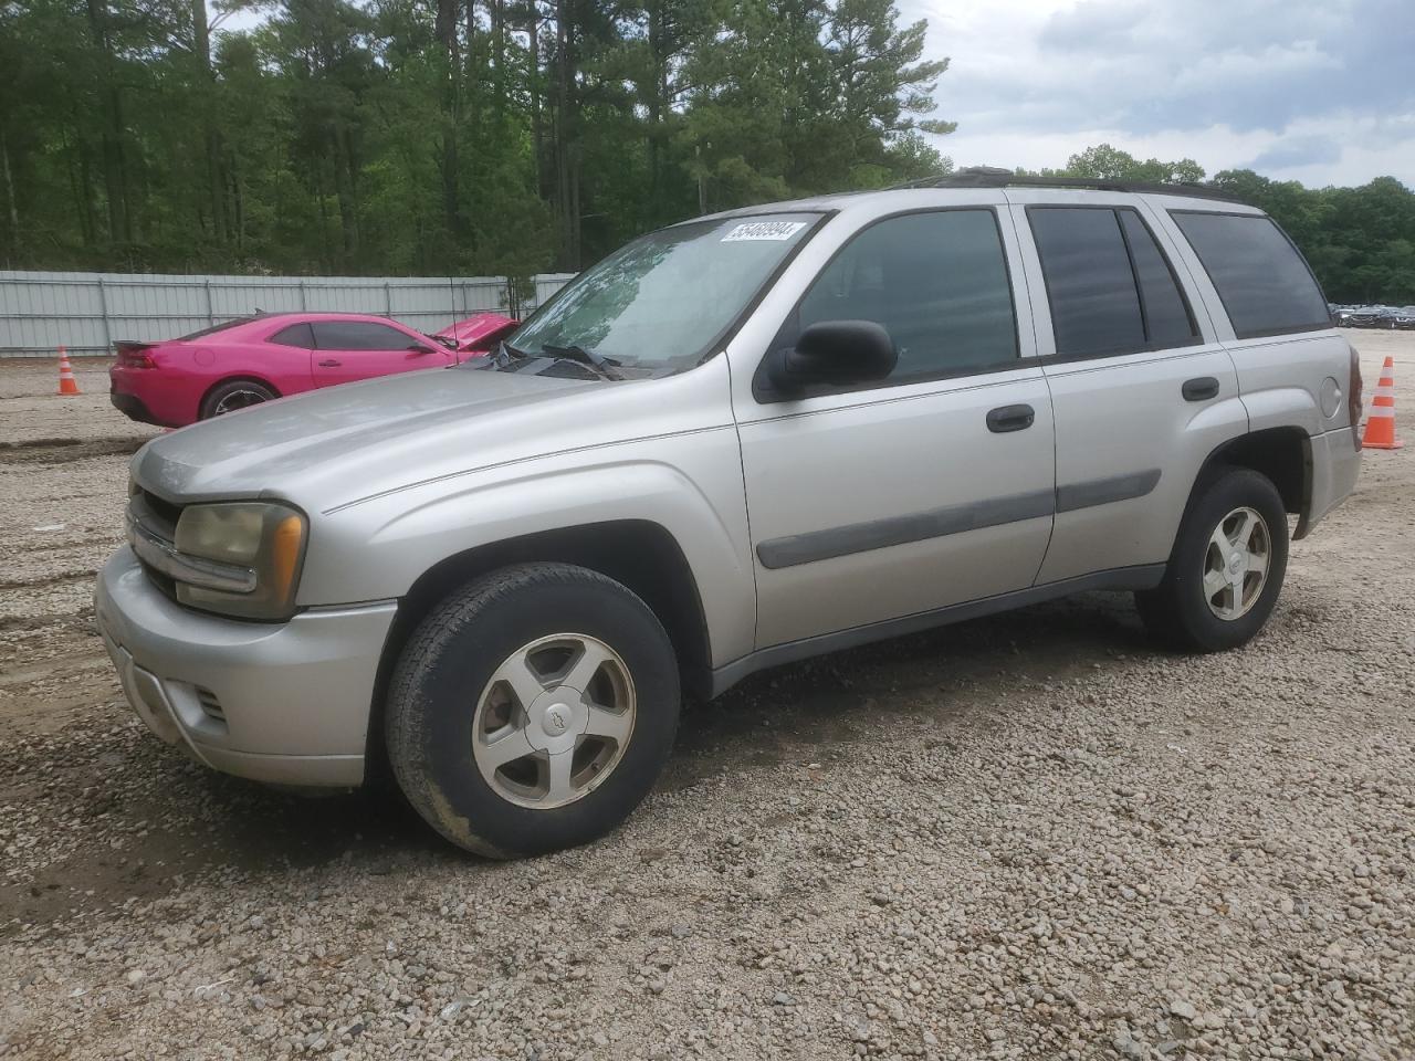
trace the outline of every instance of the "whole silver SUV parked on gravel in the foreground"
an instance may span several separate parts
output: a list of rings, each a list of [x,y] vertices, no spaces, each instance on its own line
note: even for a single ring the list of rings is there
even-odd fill
[[[508,857],[644,798],[683,690],[1078,590],[1193,651],[1274,608],[1360,463],[1356,356],[1201,188],[1002,177],[717,214],[480,368],[134,457],[98,622],[200,761],[358,785]]]

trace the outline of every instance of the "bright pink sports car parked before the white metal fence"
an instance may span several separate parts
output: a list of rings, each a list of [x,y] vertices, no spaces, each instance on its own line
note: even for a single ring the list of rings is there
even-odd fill
[[[449,331],[474,331],[481,317],[494,337],[481,348],[357,313],[256,314],[164,342],[119,341],[110,396],[134,420],[183,427],[301,390],[481,356],[516,324],[478,314]]]

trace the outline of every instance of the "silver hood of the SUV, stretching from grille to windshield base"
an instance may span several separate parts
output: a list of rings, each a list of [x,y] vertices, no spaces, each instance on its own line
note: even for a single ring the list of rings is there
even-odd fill
[[[727,427],[730,388],[726,358],[618,382],[426,369],[183,427],[139,450],[133,475],[177,504],[270,497],[314,515],[483,468]]]

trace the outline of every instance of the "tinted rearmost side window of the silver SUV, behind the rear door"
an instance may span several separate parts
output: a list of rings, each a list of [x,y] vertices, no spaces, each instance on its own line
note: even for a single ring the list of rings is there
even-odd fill
[[[1173,212],[1240,338],[1326,328],[1332,315],[1306,262],[1269,218]]]

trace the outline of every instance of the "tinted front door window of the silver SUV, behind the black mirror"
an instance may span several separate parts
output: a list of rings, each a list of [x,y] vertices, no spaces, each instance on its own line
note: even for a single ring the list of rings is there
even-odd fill
[[[891,382],[986,368],[1017,356],[1012,287],[989,209],[889,218],[860,232],[825,267],[792,327],[829,320],[884,325],[899,351]]]

